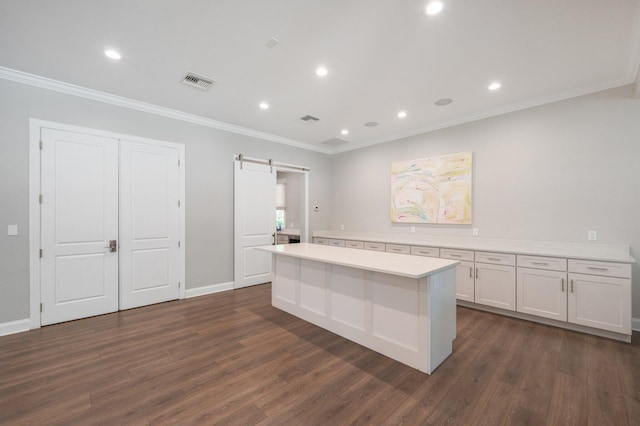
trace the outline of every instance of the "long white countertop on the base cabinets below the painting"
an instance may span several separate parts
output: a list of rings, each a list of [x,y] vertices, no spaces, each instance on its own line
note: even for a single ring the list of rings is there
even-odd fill
[[[426,247],[441,247],[536,256],[566,257],[603,262],[635,263],[628,245],[570,243],[559,241],[508,240],[490,238],[442,237],[430,235],[400,235],[371,232],[315,231],[314,237],[370,241]]]

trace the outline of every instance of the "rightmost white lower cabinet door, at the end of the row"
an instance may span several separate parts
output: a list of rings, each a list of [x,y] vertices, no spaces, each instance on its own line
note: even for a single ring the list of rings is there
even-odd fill
[[[569,274],[569,322],[631,334],[631,280]]]

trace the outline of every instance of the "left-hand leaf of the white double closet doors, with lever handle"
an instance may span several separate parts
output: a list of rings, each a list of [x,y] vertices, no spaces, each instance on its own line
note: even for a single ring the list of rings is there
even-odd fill
[[[118,310],[118,141],[42,129],[43,325]]]

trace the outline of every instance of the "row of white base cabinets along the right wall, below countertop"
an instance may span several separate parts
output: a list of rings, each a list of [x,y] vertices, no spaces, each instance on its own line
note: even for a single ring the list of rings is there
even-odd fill
[[[459,301],[631,335],[630,264],[316,237],[314,243],[459,260]]]

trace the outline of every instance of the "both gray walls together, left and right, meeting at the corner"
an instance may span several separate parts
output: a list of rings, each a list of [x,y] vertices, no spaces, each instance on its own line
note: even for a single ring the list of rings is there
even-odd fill
[[[640,99],[633,88],[583,96],[333,157],[0,80],[0,323],[29,316],[29,118],[184,143],[187,288],[233,280],[234,154],[311,168],[310,230],[408,233],[389,220],[390,163],[474,153],[473,225],[425,235],[631,246],[640,257]],[[333,208],[332,208],[333,207]],[[6,235],[18,224],[20,235]],[[640,269],[633,269],[640,318]]]

